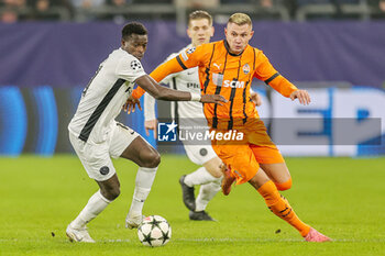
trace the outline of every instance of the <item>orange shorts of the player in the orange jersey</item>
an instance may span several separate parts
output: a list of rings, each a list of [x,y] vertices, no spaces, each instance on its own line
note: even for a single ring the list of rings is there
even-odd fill
[[[261,126],[262,124],[262,126]],[[219,132],[219,130],[211,130]],[[212,148],[230,168],[237,183],[248,182],[260,169],[260,164],[285,163],[279,149],[266,133],[262,121],[252,121],[238,129],[242,142],[212,140]]]

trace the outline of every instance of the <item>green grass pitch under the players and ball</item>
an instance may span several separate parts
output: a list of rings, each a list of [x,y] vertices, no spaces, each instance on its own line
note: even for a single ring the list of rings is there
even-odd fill
[[[88,226],[97,243],[69,243],[66,225],[96,182],[76,156],[22,156],[0,158],[0,255],[385,255],[385,158],[286,160],[294,186],[283,194],[334,242],[302,242],[248,183],[211,201],[207,210],[218,222],[189,221],[178,178],[197,167],[186,156],[164,155],[143,213],[168,220],[166,246],[144,247],[136,230],[124,229],[136,172],[124,159],[114,162],[121,196]]]

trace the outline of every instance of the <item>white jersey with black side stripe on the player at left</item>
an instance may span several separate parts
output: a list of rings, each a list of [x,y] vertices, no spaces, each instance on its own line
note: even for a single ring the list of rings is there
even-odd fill
[[[132,92],[144,76],[141,62],[122,48],[113,51],[85,88],[68,130],[84,142],[101,143]]]

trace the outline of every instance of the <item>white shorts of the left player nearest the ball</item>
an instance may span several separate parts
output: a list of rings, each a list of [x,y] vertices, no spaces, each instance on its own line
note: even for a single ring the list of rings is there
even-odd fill
[[[111,178],[117,171],[112,158],[118,158],[124,149],[140,136],[132,129],[116,122],[108,138],[102,143],[84,142],[69,132],[69,141],[88,176],[97,181]]]

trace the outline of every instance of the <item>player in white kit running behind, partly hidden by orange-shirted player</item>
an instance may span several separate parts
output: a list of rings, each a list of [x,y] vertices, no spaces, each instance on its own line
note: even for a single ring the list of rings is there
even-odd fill
[[[189,14],[187,29],[187,34],[191,38],[191,44],[187,45],[179,53],[172,54],[166,62],[184,53],[188,48],[209,43],[213,32],[212,18],[208,12],[191,12]],[[170,88],[176,90],[200,93],[198,67],[173,74],[162,80],[162,84],[168,84]],[[255,93],[253,97],[256,97]],[[157,120],[155,118],[154,107],[154,98],[145,93],[144,116],[146,132],[147,130],[156,130]],[[197,102],[172,102],[172,116],[177,120],[179,126],[193,126],[193,121],[198,122],[198,126],[208,126],[202,104]],[[206,212],[206,207],[221,189],[222,171],[220,168],[222,162],[212,149],[210,142],[202,142],[197,145],[197,143],[184,141],[184,147],[188,158],[193,163],[201,166],[191,174],[182,176],[179,179],[183,201],[187,209],[190,210],[189,219],[195,221],[213,221]],[[195,198],[194,186],[199,185],[199,193],[198,197]]]

